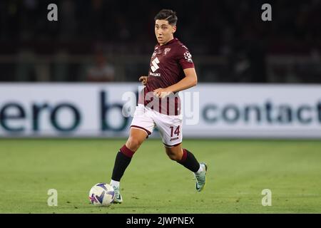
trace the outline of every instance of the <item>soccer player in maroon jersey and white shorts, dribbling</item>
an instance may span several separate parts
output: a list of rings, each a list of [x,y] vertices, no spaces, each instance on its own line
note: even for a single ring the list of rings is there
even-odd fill
[[[173,36],[177,21],[175,12],[169,9],[163,9],[155,16],[158,44],[151,56],[148,76],[139,78],[145,88],[138,98],[129,138],[116,155],[111,177],[114,203],[123,202],[119,187],[121,177],[134,153],[155,127],[161,134],[168,157],[194,173],[196,190],[202,191],[205,185],[207,165],[199,163],[193,153],[181,145],[183,117],[178,92],[196,86],[198,78],[188,48]]]

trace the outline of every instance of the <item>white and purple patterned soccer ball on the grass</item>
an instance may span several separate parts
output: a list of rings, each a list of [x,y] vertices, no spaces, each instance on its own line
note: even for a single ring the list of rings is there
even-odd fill
[[[96,206],[110,206],[115,199],[115,192],[111,185],[98,183],[89,192],[89,201]]]

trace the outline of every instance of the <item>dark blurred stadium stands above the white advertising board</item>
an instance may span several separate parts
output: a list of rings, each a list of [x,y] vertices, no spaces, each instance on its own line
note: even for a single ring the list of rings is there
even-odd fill
[[[58,22],[49,23],[54,2]],[[269,1],[271,22],[260,19],[264,3],[3,0],[0,80],[88,81],[87,69],[104,60],[111,81],[136,81],[155,45],[153,17],[167,6],[200,82],[321,83],[320,1]]]

